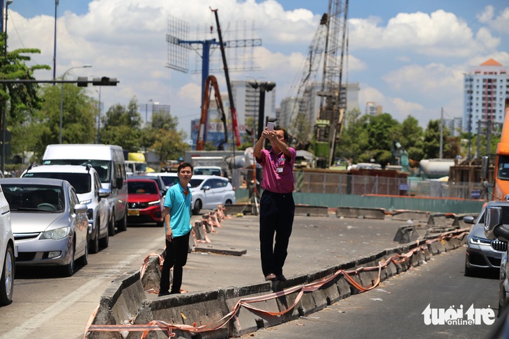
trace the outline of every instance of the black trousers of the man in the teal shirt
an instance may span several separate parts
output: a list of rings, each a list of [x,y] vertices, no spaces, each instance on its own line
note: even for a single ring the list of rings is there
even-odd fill
[[[173,267],[172,291],[178,293],[182,286],[182,273],[188,262],[189,236],[191,231],[181,237],[174,237],[171,242],[166,240],[165,261],[162,263],[159,293],[169,292],[169,270]]]

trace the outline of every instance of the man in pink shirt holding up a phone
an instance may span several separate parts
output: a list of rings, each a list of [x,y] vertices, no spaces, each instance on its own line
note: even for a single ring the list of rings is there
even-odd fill
[[[265,139],[272,149],[263,148]],[[254,157],[264,169],[260,199],[261,270],[266,281],[287,281],[283,275],[288,242],[294,223],[294,162],[296,150],[288,147],[288,133],[275,127],[265,129],[254,145]],[[274,243],[275,234],[275,243]]]

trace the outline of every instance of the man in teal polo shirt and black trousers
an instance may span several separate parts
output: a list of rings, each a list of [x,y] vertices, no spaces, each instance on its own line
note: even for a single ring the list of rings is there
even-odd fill
[[[188,187],[192,177],[192,165],[178,166],[178,183],[166,192],[165,235],[166,254],[162,264],[159,297],[181,292],[182,273],[188,261],[189,235],[191,233],[192,194]],[[169,270],[173,267],[172,290],[169,290]]]

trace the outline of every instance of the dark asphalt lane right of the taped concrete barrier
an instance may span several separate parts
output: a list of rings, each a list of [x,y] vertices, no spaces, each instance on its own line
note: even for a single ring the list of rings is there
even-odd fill
[[[467,320],[471,306],[490,308],[496,315],[496,272],[466,277],[464,256],[464,249],[436,255],[427,264],[390,278],[374,290],[242,338],[487,338],[496,324],[425,324],[423,312],[428,305],[462,309],[462,320]]]

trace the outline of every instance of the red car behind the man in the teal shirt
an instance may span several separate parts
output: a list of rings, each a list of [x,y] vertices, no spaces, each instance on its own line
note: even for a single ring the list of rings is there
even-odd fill
[[[155,223],[163,226],[163,196],[153,179],[129,179],[128,223]]]

